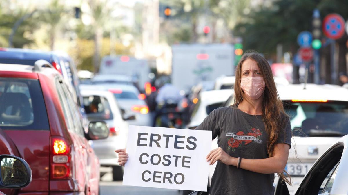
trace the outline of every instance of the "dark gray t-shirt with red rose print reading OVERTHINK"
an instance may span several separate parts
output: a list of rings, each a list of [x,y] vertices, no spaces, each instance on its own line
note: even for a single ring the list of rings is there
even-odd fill
[[[212,111],[197,130],[212,130],[212,139],[218,137],[218,145],[227,154],[243,159],[268,158],[268,135],[261,115],[248,115],[236,106],[218,108]],[[284,133],[277,143],[291,147],[291,127],[287,121]],[[281,130],[280,132],[284,132]],[[243,160],[242,160],[243,162]],[[216,162],[211,181],[211,195],[273,194],[274,174],[262,174]]]

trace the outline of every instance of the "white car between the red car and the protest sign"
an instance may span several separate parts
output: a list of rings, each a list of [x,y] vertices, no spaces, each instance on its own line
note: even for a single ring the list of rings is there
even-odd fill
[[[108,138],[94,140],[92,143],[100,165],[112,167],[113,180],[121,180],[123,169],[118,164],[118,155],[114,150],[126,147],[128,122],[122,118],[117,100],[111,92],[81,90],[81,95],[88,120],[103,120],[110,129]]]

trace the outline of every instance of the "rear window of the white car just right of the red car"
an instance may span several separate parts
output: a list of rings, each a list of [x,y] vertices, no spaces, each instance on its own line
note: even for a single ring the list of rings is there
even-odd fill
[[[104,97],[84,96],[84,106],[89,120],[113,119],[110,104]]]

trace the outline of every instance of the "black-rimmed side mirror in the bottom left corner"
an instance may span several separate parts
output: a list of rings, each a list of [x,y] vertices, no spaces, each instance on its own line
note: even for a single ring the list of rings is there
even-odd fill
[[[14,155],[0,155],[0,188],[22,188],[32,180],[29,164]]]

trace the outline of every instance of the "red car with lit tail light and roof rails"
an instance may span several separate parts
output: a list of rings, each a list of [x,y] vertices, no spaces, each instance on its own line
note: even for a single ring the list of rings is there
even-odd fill
[[[106,138],[108,126],[91,122],[85,133],[68,87],[49,62],[0,64],[0,129],[1,153],[23,158],[32,169],[28,186],[3,193],[98,194],[100,164],[88,139]]]

